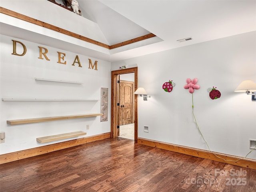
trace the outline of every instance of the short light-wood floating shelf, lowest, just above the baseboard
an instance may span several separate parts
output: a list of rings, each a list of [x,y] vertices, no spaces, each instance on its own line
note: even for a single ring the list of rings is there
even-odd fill
[[[72,137],[77,137],[81,135],[86,135],[86,132],[76,131],[76,132],[70,132],[70,133],[64,133],[64,134],[58,134],[58,135],[51,135],[51,136],[36,138],[36,141],[40,143],[46,143],[50,141],[72,138]]]

